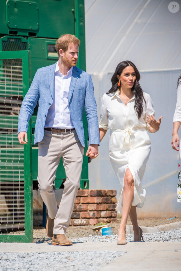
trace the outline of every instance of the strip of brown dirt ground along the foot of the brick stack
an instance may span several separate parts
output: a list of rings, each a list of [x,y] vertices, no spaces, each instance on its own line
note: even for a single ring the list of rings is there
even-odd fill
[[[181,221],[181,217],[176,217],[171,220],[167,220],[168,218],[141,218],[138,219],[138,225],[139,226],[146,226],[146,227],[154,227],[164,224],[169,224],[173,222]],[[117,222],[108,223],[112,229],[113,233],[117,234],[117,230],[119,227],[121,219],[118,218]],[[36,224],[34,222],[34,224]],[[128,225],[131,225],[130,219],[128,219],[127,222]],[[95,226],[70,226],[66,231],[66,237],[67,238],[76,238],[76,237],[88,237],[90,235],[101,235],[100,232],[95,232],[92,229]],[[42,243],[42,242],[51,242],[51,239],[47,237],[46,235],[46,229],[40,226],[34,226],[33,227],[33,241]]]

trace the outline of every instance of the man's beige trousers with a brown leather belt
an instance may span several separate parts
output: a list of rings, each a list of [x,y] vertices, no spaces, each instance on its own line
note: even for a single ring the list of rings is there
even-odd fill
[[[45,131],[38,144],[38,187],[50,218],[55,218],[53,234],[65,234],[78,188],[80,187],[84,147],[76,131],[56,134]],[[53,181],[56,169],[63,159],[66,171],[63,196],[57,209]]]

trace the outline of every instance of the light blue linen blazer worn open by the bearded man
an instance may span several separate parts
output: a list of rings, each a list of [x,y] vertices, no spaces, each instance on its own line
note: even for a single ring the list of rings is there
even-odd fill
[[[39,103],[37,121],[35,125],[34,144],[41,142],[44,136],[44,126],[48,109],[53,103],[55,87],[56,63],[38,69],[31,87],[29,88],[19,114],[18,133],[27,132],[28,121],[32,116],[37,101]],[[83,107],[88,122],[89,144],[100,144],[97,108],[94,97],[94,88],[90,74],[73,67],[68,94],[69,111],[73,125],[83,147],[85,147],[83,129]]]

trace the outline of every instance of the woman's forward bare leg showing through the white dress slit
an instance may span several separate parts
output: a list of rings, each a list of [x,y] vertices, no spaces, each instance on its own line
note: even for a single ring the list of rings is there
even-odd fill
[[[119,240],[126,240],[126,223],[130,213],[134,197],[134,179],[130,169],[126,169],[124,178],[124,191],[123,191],[123,209],[121,216],[121,223],[118,230]]]

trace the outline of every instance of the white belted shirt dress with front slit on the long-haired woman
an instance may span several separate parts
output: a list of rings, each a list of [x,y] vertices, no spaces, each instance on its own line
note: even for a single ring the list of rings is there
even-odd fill
[[[155,115],[155,112],[149,94],[144,93],[144,98],[146,106],[143,102],[144,109],[139,119],[134,108],[135,95],[126,106],[119,97],[119,90],[111,94],[105,93],[101,99],[99,127],[110,129],[110,161],[120,182],[120,198],[116,207],[119,213],[123,204],[124,176],[127,168],[130,169],[135,184],[132,205],[142,208],[146,200],[146,191],[141,185],[151,150],[146,117]]]

